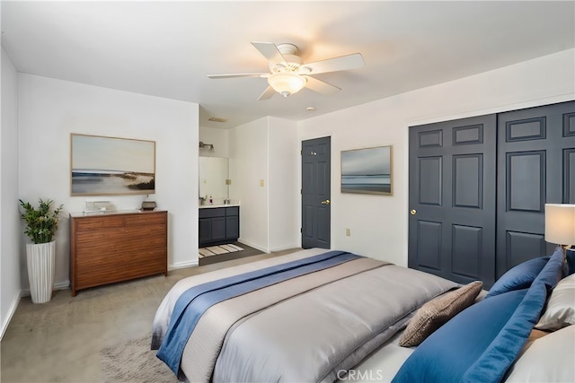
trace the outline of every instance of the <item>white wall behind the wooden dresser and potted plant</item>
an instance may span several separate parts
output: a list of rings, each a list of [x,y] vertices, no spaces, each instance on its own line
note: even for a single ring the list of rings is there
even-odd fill
[[[19,195],[64,204],[56,235],[55,283],[68,284],[67,213],[84,210],[85,197],[70,196],[70,134],[108,135],[155,141],[155,195],[169,211],[168,265],[198,264],[199,106],[31,74],[19,74]],[[4,153],[3,153],[4,156]],[[102,196],[117,209],[136,209],[146,196]],[[90,196],[89,199],[98,198]],[[27,240],[22,234],[25,265]],[[23,288],[28,286],[22,267]]]

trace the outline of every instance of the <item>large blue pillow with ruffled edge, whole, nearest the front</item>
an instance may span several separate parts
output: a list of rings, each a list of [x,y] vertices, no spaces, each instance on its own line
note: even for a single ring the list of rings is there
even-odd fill
[[[411,353],[394,382],[500,381],[517,358],[562,277],[555,250],[529,289],[493,295],[464,309]]]

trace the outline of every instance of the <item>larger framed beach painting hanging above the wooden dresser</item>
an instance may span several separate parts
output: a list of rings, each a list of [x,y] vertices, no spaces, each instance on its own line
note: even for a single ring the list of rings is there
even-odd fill
[[[72,196],[155,193],[155,141],[73,133],[70,142]]]

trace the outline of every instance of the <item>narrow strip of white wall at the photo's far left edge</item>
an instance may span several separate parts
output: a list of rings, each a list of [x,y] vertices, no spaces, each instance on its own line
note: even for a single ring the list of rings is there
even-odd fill
[[[0,339],[20,301],[18,213],[18,74],[2,49],[0,114]]]

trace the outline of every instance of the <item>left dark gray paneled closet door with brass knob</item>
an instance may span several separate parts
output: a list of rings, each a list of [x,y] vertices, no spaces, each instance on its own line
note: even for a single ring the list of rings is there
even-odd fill
[[[491,115],[410,127],[411,268],[494,282],[495,124]]]

